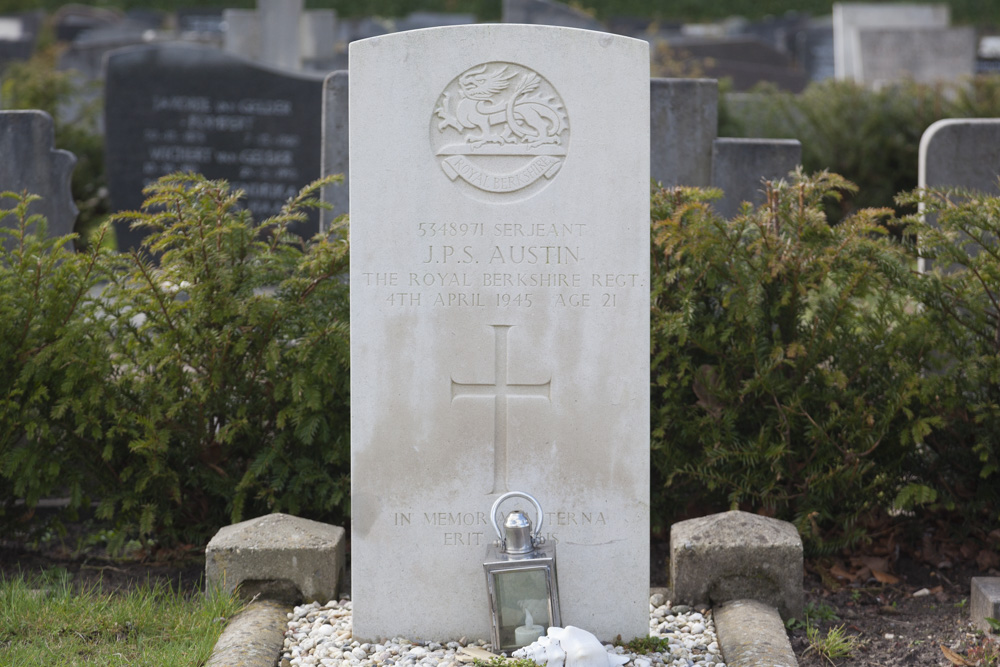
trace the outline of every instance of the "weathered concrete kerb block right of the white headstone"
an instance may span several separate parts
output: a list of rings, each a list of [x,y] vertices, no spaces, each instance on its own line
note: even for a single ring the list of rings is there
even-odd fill
[[[758,600],[782,618],[802,618],[802,538],[786,522],[723,512],[670,528],[674,604]]]

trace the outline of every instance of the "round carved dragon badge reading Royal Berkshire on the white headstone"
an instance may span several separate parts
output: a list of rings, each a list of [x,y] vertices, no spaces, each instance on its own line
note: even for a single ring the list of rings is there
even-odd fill
[[[534,194],[562,167],[569,118],[537,72],[489,62],[458,75],[431,117],[431,145],[452,181],[475,190]],[[459,180],[460,179],[460,180]]]

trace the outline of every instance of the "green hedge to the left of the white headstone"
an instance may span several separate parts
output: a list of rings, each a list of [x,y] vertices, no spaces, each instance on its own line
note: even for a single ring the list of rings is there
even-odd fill
[[[346,518],[347,243],[285,231],[322,183],[258,224],[224,183],[165,177],[121,216],[150,231],[127,255],[22,223],[0,261],[4,516],[65,493],[122,539],[188,542],[269,511]]]

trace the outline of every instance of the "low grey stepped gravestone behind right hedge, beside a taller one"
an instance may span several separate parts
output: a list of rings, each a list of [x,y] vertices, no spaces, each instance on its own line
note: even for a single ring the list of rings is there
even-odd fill
[[[715,209],[731,218],[747,201],[764,203],[762,181],[777,180],[802,162],[798,139],[716,139],[712,145],[712,187],[720,188],[722,199]]]

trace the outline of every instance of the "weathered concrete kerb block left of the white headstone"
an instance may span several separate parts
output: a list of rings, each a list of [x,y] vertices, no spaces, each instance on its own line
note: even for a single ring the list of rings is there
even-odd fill
[[[208,588],[245,599],[296,604],[334,600],[346,561],[346,531],[287,514],[226,526],[205,549]]]

